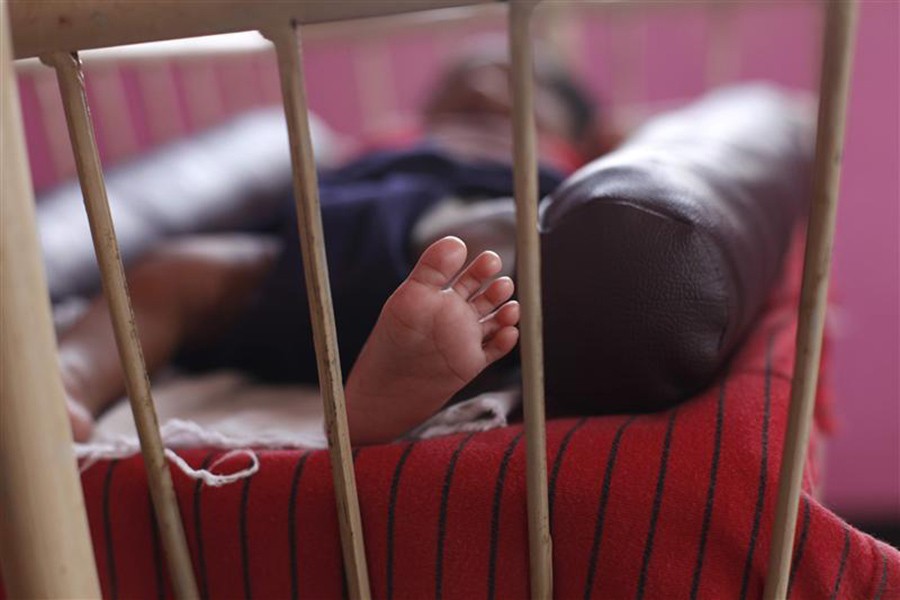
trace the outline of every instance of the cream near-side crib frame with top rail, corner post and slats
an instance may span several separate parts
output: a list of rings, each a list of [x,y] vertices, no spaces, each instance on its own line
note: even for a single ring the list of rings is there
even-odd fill
[[[148,480],[179,598],[198,597],[172,487],[149,380],[106,201],[79,50],[120,44],[259,30],[274,44],[288,123],[298,226],[310,294],[314,338],[338,503],[350,596],[371,596],[353,463],[347,435],[341,367],[328,283],[316,172],[307,121],[299,26],[360,19],[490,0],[369,0],[368,2],[235,2],[166,4],[14,0],[0,7],[0,563],[11,597],[99,597],[81,484],[71,450],[63,387],[41,266],[13,59],[40,57],[56,69],[76,156],[104,290],[126,374],[128,395]],[[519,294],[522,304],[523,389],[531,596],[552,595],[552,546],[547,467],[537,235],[537,157],[532,115],[531,15],[538,0],[509,1],[514,91],[515,196]],[[818,380],[840,157],[854,41],[855,0],[823,2],[815,181],[810,206],[797,356],[774,524],[766,598],[784,598]],[[299,274],[298,274],[299,275]],[[24,457],[28,457],[27,460]],[[37,468],[34,468],[37,465]]]

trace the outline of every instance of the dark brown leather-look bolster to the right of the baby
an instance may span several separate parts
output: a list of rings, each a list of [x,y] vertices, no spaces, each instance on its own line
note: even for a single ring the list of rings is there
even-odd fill
[[[760,312],[809,196],[806,108],[763,85],[711,94],[543,202],[551,406],[654,411],[711,382]]]

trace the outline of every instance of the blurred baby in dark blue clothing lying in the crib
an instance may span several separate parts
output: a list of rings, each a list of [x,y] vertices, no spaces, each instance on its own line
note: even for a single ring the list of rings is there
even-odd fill
[[[535,70],[546,194],[601,144],[590,95],[543,50]],[[501,257],[487,252],[502,248],[507,266],[514,264],[511,109],[505,45],[477,44],[438,78],[419,141],[322,174],[339,346],[342,363],[353,366],[346,371],[355,442],[402,435],[515,344],[513,283],[500,276]],[[286,197],[284,206],[273,236],[176,240],[131,270],[151,373],[174,359],[193,370],[316,381],[293,200]],[[446,239],[450,234],[465,244]],[[467,256],[473,260],[465,267]],[[435,315],[452,320],[434,329]],[[412,338],[410,327],[418,332]],[[457,344],[463,331],[470,335]],[[441,354],[451,347],[459,348],[452,360]],[[124,393],[103,299],[63,335],[60,361],[75,437],[85,440],[93,418]]]

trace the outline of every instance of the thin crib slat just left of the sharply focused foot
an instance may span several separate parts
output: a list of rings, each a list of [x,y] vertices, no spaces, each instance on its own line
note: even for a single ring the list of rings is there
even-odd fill
[[[278,54],[278,69],[281,75],[281,90],[294,171],[297,226],[300,229],[303,271],[309,294],[319,388],[325,405],[325,425],[328,432],[347,585],[351,598],[369,598],[371,597],[369,576],[347,427],[347,409],[344,403],[331,286],[325,257],[325,234],[319,211],[319,190],[309,133],[299,31],[291,25],[265,32],[265,35],[275,43]]]

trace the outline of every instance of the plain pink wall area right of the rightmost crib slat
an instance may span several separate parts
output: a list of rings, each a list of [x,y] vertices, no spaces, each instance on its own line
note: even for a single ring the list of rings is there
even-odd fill
[[[835,245],[841,427],[826,497],[863,517],[900,517],[900,4],[864,2]]]

